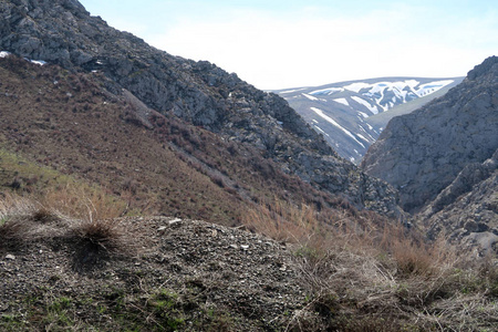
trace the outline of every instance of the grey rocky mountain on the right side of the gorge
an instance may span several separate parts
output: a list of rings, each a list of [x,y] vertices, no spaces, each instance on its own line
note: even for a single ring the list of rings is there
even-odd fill
[[[421,211],[429,234],[487,249],[498,241],[497,91],[491,56],[443,97],[394,117],[361,164],[400,191],[405,210]]]

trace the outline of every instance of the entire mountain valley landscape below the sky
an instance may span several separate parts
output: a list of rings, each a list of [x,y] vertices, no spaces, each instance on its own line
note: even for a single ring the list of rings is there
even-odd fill
[[[264,92],[76,0],[0,18],[0,330],[496,330],[496,56]]]

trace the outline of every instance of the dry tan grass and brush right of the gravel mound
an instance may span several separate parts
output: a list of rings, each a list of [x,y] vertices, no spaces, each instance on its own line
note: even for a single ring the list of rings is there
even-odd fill
[[[372,217],[338,210],[324,225],[311,207],[282,203],[247,214],[249,229],[293,242],[310,301],[289,331],[494,331],[492,260],[469,262],[444,237],[427,242]]]

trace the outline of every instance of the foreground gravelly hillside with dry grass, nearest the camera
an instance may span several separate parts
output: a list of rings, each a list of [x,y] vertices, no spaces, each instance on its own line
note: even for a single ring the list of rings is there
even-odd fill
[[[492,264],[392,225],[313,231],[313,211],[283,208],[286,242],[179,218],[77,220],[2,198],[0,329],[496,331]]]

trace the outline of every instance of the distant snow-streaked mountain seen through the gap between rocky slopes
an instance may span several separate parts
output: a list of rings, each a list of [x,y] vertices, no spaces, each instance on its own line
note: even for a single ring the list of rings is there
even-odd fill
[[[382,77],[274,92],[324,135],[339,155],[359,163],[392,117],[414,111],[461,81]]]

